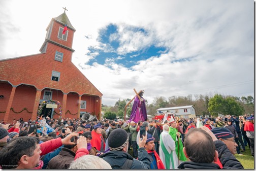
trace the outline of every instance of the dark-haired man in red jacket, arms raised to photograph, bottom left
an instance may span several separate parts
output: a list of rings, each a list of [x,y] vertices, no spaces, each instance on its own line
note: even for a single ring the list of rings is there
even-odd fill
[[[42,144],[39,144],[38,138],[32,136],[16,138],[0,151],[0,163],[2,168],[31,169],[38,165],[43,166],[40,156],[55,150],[61,145],[74,145],[75,143],[70,140],[73,136],[78,136],[78,133],[73,132],[64,139],[57,138]],[[82,155],[89,154],[86,149],[86,139],[82,138],[78,142],[81,142],[81,145],[77,147],[78,150],[75,159]]]

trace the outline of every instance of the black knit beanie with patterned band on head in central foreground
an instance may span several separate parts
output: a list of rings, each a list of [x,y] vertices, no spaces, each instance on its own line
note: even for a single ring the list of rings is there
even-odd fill
[[[110,132],[108,144],[111,151],[119,151],[123,149],[129,142],[129,137],[124,129],[114,129]]]

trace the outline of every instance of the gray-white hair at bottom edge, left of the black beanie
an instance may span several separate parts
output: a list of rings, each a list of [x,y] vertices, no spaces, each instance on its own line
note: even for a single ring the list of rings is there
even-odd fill
[[[100,157],[84,155],[72,161],[69,169],[112,169],[112,167]]]

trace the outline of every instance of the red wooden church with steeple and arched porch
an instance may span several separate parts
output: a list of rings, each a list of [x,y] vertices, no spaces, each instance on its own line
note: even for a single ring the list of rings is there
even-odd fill
[[[86,112],[101,118],[103,94],[71,61],[76,29],[66,13],[46,30],[41,53],[0,60],[0,119],[78,118]]]

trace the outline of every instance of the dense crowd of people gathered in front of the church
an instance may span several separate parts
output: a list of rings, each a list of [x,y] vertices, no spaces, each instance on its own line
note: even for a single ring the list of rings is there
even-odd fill
[[[254,157],[254,114],[139,122],[41,116],[0,124],[3,169],[243,169],[234,154],[245,146]]]

